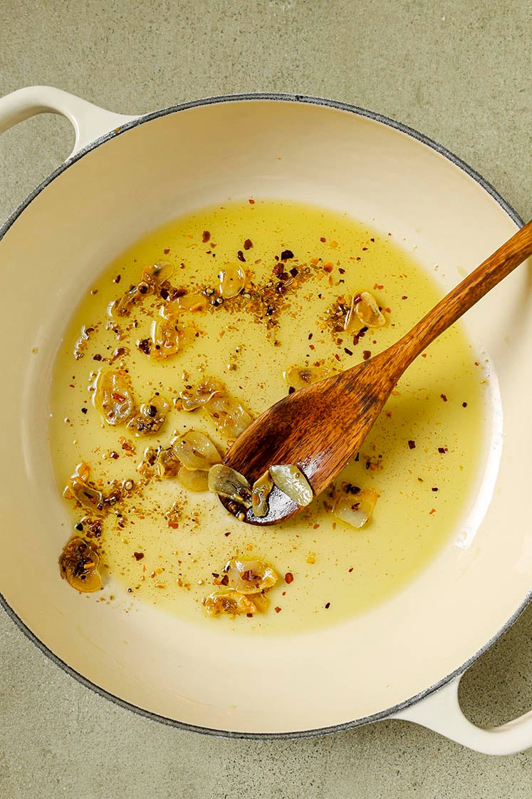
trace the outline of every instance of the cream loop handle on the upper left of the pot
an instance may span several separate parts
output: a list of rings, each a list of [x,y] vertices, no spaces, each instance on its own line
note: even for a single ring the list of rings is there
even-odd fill
[[[105,111],[53,86],[26,86],[0,98],[0,133],[38,113],[60,113],[72,123],[76,143],[70,157],[104,133],[138,118]]]

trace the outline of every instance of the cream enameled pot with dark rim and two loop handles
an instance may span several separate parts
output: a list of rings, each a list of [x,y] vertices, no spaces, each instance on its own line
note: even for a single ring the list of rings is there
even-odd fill
[[[498,729],[463,716],[459,678],[530,599],[530,264],[466,318],[490,363],[482,474],[466,517],[431,564],[366,614],[253,642],[155,608],[125,614],[66,590],[65,510],[50,468],[46,398],[69,309],[125,245],[228,196],[341,209],[415,242],[456,284],[522,225],[471,169],[415,131],[312,97],[216,97],[124,117],[50,87],[0,100],[0,131],[61,113],[72,155],[0,229],[0,591],[7,612],[70,674],[151,718],[240,737],[416,721],[486,753],[532,745],[532,714]]]

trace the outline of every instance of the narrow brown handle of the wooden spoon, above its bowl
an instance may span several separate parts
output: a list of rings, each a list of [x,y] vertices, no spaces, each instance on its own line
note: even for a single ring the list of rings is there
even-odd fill
[[[393,345],[401,364],[401,371],[423,352],[440,333],[455,324],[455,321],[468,311],[494,286],[513,272],[523,260],[532,255],[532,221],[502,244],[493,255],[486,258],[474,272],[452,289],[443,300],[423,316],[402,339]]]

